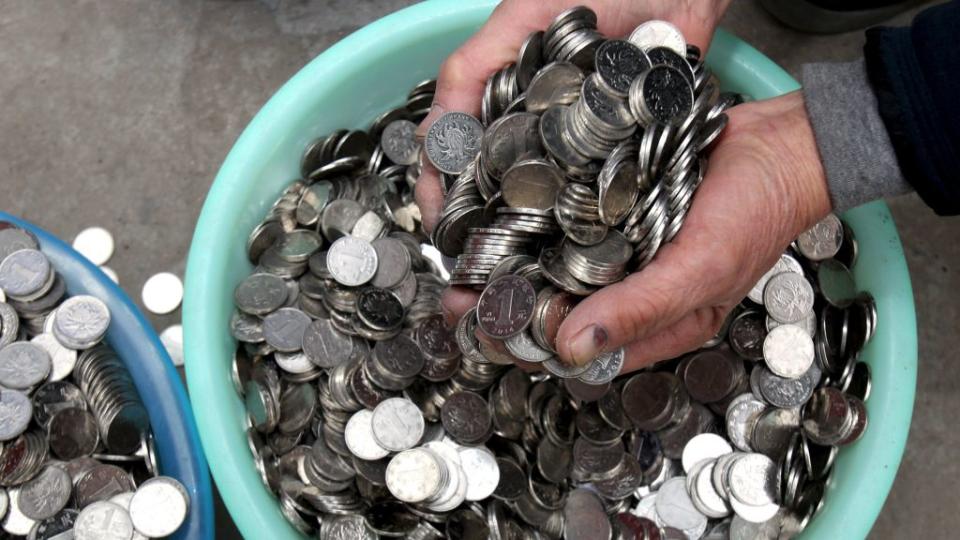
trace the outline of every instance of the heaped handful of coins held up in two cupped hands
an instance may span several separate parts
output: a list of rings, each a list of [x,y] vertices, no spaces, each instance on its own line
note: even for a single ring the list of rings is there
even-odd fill
[[[569,310],[673,239],[703,179],[702,154],[741,101],[720,93],[672,25],[606,39],[596,23],[588,8],[560,14],[490,77],[480,120],[448,112],[424,141],[444,178],[433,242],[456,257],[450,283],[483,290],[481,330],[561,377],[587,368],[553,358],[548,306]],[[530,265],[539,271],[504,277]],[[593,369],[615,375],[622,356]]]

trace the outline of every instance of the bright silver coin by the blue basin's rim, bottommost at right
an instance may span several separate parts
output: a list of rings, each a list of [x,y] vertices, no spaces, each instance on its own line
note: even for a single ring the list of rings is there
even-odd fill
[[[97,504],[97,503],[94,503]],[[157,476],[140,485],[130,500],[130,520],[137,532],[150,538],[177,531],[190,511],[186,488],[174,478]]]

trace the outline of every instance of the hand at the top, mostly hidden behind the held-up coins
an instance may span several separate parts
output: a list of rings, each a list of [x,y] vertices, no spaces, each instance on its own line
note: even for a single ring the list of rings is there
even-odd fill
[[[610,37],[627,36],[640,23],[660,19],[676,25],[687,43],[706,52],[714,28],[731,0],[504,0],[490,20],[453,52],[440,68],[430,113],[417,135],[445,112],[480,116],[487,78],[515,62],[520,45],[531,32],[543,30],[565,9],[585,5],[597,13],[597,27]],[[426,159],[417,181],[416,197],[423,226],[430,232],[440,219],[443,193],[440,176]],[[474,297],[475,300],[475,297]]]

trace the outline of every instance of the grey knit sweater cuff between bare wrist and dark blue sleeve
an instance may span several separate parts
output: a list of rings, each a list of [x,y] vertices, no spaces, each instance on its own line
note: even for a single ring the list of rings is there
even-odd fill
[[[835,212],[913,191],[900,172],[862,59],[805,64],[803,93]]]

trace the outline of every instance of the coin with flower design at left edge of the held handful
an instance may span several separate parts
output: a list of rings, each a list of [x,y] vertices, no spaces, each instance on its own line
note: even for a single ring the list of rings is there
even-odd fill
[[[462,112],[447,112],[427,130],[427,158],[441,172],[460,174],[480,151],[483,125]]]

